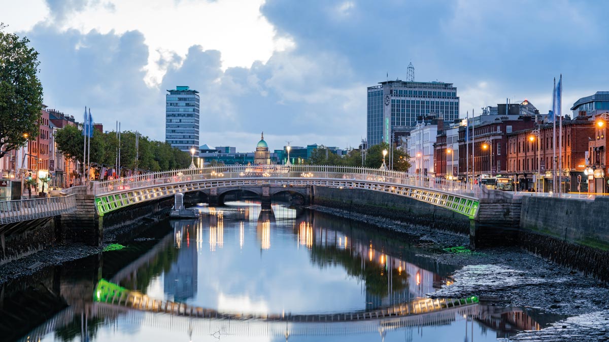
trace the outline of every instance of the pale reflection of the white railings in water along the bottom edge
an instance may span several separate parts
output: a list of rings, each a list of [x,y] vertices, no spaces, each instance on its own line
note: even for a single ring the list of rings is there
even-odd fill
[[[440,311],[431,311],[409,316],[385,316],[378,319],[354,321],[267,321],[264,319],[197,318],[185,315],[163,315],[141,312],[118,305],[93,303],[87,309],[89,319],[107,318],[130,323],[135,326],[156,327],[193,335],[237,335],[242,337],[277,337],[315,335],[350,335],[360,333],[384,333],[404,327],[450,324],[464,317],[477,317],[479,304],[464,305]],[[36,327],[19,341],[37,341],[57,329],[71,324],[76,317],[82,317],[73,307],[68,307]],[[82,325],[86,326],[86,321]]]

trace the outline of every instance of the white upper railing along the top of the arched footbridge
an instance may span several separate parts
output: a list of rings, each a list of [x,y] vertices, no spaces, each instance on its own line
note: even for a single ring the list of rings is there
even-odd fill
[[[426,177],[407,172],[370,169],[366,167],[311,165],[230,165],[203,167],[200,169],[172,170],[97,182],[94,185],[94,191],[96,195],[104,195],[169,183],[244,178],[356,180],[369,183],[428,188],[472,198],[481,197],[481,189],[479,187],[470,189],[466,184],[445,180],[443,178]]]

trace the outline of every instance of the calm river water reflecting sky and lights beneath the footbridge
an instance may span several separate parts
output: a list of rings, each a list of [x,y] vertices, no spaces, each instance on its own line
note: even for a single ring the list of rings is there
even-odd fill
[[[426,294],[451,285],[456,268],[421,256],[425,250],[415,237],[309,209],[273,204],[262,210],[254,202],[196,208],[197,220],[149,223],[125,248],[5,285],[1,336],[7,341],[467,342],[496,341],[551,323],[535,310],[484,302],[345,321],[340,317],[427,305]],[[96,287],[102,280],[220,314],[300,315],[307,321],[189,317],[100,303]]]

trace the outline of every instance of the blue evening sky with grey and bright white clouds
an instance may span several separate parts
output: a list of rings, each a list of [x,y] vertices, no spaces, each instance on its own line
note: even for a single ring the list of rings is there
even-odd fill
[[[366,87],[454,83],[460,116],[528,99],[563,113],[609,90],[609,2],[567,0],[0,0],[40,52],[44,103],[164,140],[167,89],[200,92],[200,144],[357,147]]]

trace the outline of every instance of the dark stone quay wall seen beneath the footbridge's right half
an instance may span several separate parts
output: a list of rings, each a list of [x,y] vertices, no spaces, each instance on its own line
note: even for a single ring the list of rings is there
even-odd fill
[[[373,190],[321,186],[315,186],[313,194],[313,203],[320,206],[464,235],[470,233],[470,219],[465,215],[408,197]]]

